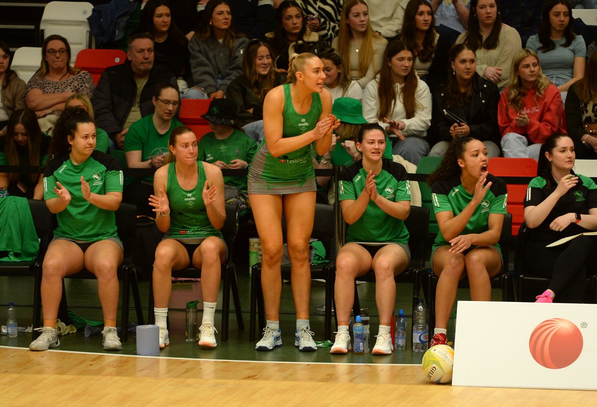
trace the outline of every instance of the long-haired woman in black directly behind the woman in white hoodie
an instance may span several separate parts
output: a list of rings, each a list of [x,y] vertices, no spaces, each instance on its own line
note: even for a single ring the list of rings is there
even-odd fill
[[[410,0],[402,24],[402,41],[414,51],[413,69],[429,86],[431,92],[444,84],[448,77],[447,36],[435,30],[435,18],[427,0]]]

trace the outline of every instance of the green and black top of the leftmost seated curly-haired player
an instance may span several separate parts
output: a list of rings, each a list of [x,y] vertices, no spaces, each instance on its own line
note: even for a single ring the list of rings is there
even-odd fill
[[[114,211],[100,209],[83,198],[81,175],[93,193],[122,192],[122,171],[118,160],[111,156],[94,150],[79,165],[73,164],[68,153],[54,157],[45,167],[44,200],[58,197],[54,192],[56,182],[68,190],[71,198],[64,211],[56,214],[58,227],[54,236],[81,242],[116,238]]]

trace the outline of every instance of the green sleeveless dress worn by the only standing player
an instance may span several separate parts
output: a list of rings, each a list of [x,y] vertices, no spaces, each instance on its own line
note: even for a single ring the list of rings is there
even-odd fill
[[[315,128],[319,116],[321,116],[322,109],[319,93],[312,93],[311,108],[309,112],[301,115],[294,110],[290,84],[282,86],[284,87],[284,110],[282,111],[284,127],[282,129],[282,137],[296,137]],[[267,144],[265,139],[263,139],[259,151],[251,163],[249,176],[258,180],[270,181],[271,183],[288,183],[290,181],[293,184],[304,184],[306,180],[315,178],[311,144],[307,144],[285,155],[274,157],[267,151]]]

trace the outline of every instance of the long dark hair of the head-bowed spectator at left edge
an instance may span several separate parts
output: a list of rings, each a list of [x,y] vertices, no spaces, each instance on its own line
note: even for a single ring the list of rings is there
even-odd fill
[[[17,152],[17,146],[14,142],[14,128],[17,124],[23,125],[27,131],[27,161],[21,162],[19,159],[19,152]],[[45,135],[39,128],[38,119],[35,112],[31,109],[18,109],[8,119],[7,134],[4,136],[6,140],[5,154],[8,161],[8,165],[21,165],[21,166],[39,166],[41,161],[41,143]],[[29,180],[31,183],[36,183],[39,174],[29,174]],[[17,172],[11,172],[8,175],[8,179],[11,183],[15,183],[19,180],[19,174]]]

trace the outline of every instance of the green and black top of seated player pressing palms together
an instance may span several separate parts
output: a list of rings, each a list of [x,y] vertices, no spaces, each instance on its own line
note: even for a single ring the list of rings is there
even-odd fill
[[[338,199],[356,200],[365,189],[367,171],[362,160],[345,168],[338,181]],[[410,201],[410,181],[401,164],[383,158],[381,172],[376,175],[377,193],[389,201]],[[392,242],[408,244],[408,230],[404,221],[392,217],[373,201],[369,201],[365,212],[348,226],[346,242]]]

